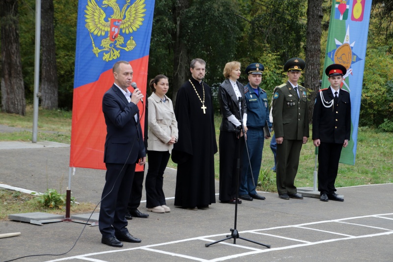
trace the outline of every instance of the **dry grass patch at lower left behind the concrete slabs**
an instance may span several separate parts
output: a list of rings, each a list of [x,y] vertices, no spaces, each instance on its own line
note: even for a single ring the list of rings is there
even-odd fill
[[[64,215],[65,207],[49,208],[39,204],[34,198],[37,196],[25,194],[18,191],[0,189],[0,220],[8,219],[9,214],[45,212],[51,214]],[[71,206],[71,213],[92,212],[95,204],[80,203]]]

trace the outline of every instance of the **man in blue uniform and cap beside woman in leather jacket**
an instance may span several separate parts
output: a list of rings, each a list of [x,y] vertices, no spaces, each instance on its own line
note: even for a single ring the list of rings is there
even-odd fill
[[[252,201],[253,199],[264,200],[265,197],[256,193],[259,170],[262,161],[262,149],[265,138],[263,127],[267,124],[272,127],[269,120],[269,105],[265,90],[259,87],[262,81],[264,66],[260,63],[253,63],[247,66],[246,74],[249,83],[244,87],[247,103],[247,117],[243,119],[247,126],[247,147],[243,150],[243,165],[241,168],[239,198]],[[248,148],[248,152],[247,152]],[[250,156],[250,162],[249,162]],[[251,166],[250,166],[251,163]],[[251,173],[251,171],[253,173]],[[253,180],[254,184],[253,184]]]

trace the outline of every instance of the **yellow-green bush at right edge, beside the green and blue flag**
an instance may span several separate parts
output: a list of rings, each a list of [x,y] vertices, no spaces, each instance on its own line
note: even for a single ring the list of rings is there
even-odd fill
[[[393,115],[392,47],[368,49],[359,124],[378,127]],[[383,127],[389,129],[387,123]]]

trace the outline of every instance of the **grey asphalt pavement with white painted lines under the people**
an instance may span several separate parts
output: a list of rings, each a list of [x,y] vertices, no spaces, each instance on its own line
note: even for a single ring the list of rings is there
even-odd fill
[[[70,182],[78,202],[98,204],[105,171],[77,168],[69,181],[68,145],[31,144],[0,142],[0,184],[36,192],[47,188],[65,192]],[[217,195],[217,203],[209,208],[193,211],[174,207],[175,183],[176,171],[167,168],[164,192],[171,212],[148,212],[149,218],[129,221],[130,233],[141,238],[141,243],[109,247],[101,244],[98,227],[84,228],[81,223],[38,226],[7,220],[0,221],[0,234],[21,234],[0,238],[0,262],[41,254],[52,255],[17,261],[393,261],[393,184],[338,188],[344,202],[282,200],[277,193],[266,192],[260,193],[266,197],[264,201],[243,201],[236,214],[239,236],[270,245],[269,249],[241,238],[235,238],[235,245],[231,238],[205,247],[231,234],[235,205],[219,203]],[[216,181],[216,193],[218,189]],[[145,199],[143,192],[139,210],[147,213]]]

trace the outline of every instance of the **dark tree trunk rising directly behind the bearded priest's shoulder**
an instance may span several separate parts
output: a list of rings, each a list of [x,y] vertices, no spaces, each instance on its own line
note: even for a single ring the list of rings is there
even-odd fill
[[[174,20],[176,21],[176,34],[172,36],[174,42],[173,54],[173,85],[172,103],[176,103],[176,95],[179,88],[186,81],[190,73],[190,61],[188,58],[187,45],[181,39],[182,14],[190,6],[189,0],[177,0]]]

